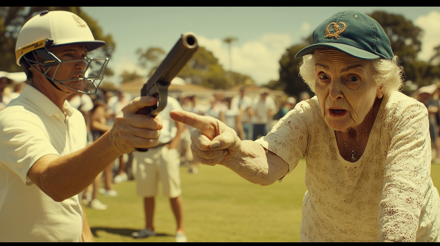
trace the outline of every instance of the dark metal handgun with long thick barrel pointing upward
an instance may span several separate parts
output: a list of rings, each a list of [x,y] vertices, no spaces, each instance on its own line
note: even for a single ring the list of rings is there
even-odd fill
[[[139,109],[137,114],[156,117],[166,107],[168,87],[171,80],[177,76],[180,70],[191,59],[198,49],[197,39],[194,33],[183,33],[177,43],[172,47],[165,59],[154,72],[147,83],[140,90],[141,96],[158,98],[157,105]],[[145,152],[148,148],[136,148],[137,151]]]

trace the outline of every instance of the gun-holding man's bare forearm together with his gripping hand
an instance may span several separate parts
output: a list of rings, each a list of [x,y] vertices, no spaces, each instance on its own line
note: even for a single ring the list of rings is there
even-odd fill
[[[57,202],[79,194],[117,157],[136,147],[158,144],[162,117],[136,114],[157,102],[155,97],[133,99],[115,118],[113,127],[94,143],[66,156],[43,156],[31,166],[27,176]]]

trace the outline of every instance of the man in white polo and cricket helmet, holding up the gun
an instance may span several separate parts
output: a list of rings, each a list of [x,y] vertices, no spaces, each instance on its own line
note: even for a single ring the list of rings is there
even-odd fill
[[[0,111],[0,242],[93,241],[78,194],[122,154],[158,144],[161,117],[136,114],[158,99],[143,96],[86,147],[84,116],[66,99],[96,92],[108,58],[87,54],[104,44],[66,11],[41,12],[18,34],[30,85]]]

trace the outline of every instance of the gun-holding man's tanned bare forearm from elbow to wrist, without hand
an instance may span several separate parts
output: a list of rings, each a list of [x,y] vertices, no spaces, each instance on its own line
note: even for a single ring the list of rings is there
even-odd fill
[[[46,195],[60,202],[83,191],[122,154],[111,145],[109,134],[104,134],[92,145],[69,155],[41,157],[29,169],[28,177]]]

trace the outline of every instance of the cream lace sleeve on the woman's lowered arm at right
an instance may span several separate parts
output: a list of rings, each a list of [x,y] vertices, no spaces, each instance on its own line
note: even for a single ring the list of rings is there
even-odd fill
[[[379,204],[379,241],[414,242],[430,179],[428,111],[417,103],[392,112],[391,145]]]

